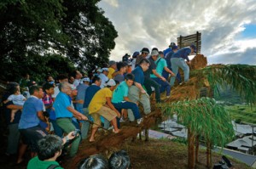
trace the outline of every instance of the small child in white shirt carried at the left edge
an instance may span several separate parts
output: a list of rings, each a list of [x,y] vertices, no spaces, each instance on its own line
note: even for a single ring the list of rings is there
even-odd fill
[[[9,98],[7,100],[5,100],[3,103],[6,104],[9,101],[12,101],[15,105],[21,105],[23,106],[23,104],[26,101],[26,98],[20,94],[20,87],[17,87],[14,91],[14,93],[12,95],[9,96]],[[12,110],[11,111],[11,116],[10,116],[10,122],[13,122],[15,120],[15,113],[18,110]]]

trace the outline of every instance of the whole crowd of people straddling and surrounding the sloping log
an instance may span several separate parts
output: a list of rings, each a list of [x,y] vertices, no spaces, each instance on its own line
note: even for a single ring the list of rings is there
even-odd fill
[[[172,42],[163,51],[153,48],[149,52],[143,48],[134,52],[131,59],[125,54],[122,61],[111,60],[102,68],[96,66],[88,75],[79,70],[70,76],[60,74],[56,79],[49,75],[42,86],[31,81],[28,74],[20,84],[9,82],[3,95],[9,127],[6,155],[18,154],[20,163],[29,146],[32,160],[28,168],[38,165],[47,168],[58,165],[53,161],[61,155],[64,144],[71,144],[69,156],[73,157],[81,139],[95,142],[99,127],[118,133],[122,121],[135,121],[140,126],[143,115],[138,104],[143,105],[143,112],[148,115],[153,90],[156,103],[160,103],[160,93],[166,93],[166,98],[171,96],[175,79],[179,84],[188,82],[188,56],[195,52],[195,45],[178,49]],[[178,68],[183,70],[183,82]],[[94,158],[86,159],[80,168],[92,164]]]

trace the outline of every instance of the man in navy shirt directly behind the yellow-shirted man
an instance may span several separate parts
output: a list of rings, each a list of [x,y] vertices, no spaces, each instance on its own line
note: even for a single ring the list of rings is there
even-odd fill
[[[90,118],[90,115],[89,115],[88,106],[89,106],[90,101],[93,98],[93,96],[101,89],[101,87],[100,87],[101,83],[102,83],[101,78],[98,77],[98,76],[94,76],[93,79],[92,79],[92,84],[90,85],[90,87],[86,88],[85,95],[84,95],[84,106],[83,106],[84,109],[83,110],[84,110],[84,115],[86,115],[89,118]],[[105,126],[109,126],[108,121],[106,121],[106,125],[104,124],[104,127]],[[81,127],[82,139],[87,138],[89,127],[90,127],[90,122],[89,121],[84,121],[82,123],[82,127]]]

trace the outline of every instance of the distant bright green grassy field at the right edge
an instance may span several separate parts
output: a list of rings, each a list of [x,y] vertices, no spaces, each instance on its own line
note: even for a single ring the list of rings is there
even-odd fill
[[[256,124],[256,107],[249,105],[236,104],[225,106],[225,109],[230,113],[235,121],[248,122]]]

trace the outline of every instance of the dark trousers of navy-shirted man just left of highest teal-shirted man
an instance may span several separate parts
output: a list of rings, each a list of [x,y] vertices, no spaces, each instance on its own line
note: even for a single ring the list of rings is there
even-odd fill
[[[155,100],[156,100],[157,103],[160,102],[160,84],[158,84],[157,82],[155,82],[151,78],[145,78],[144,87],[146,88],[147,93],[148,93],[149,96],[152,93],[152,88],[151,87],[154,87]]]

